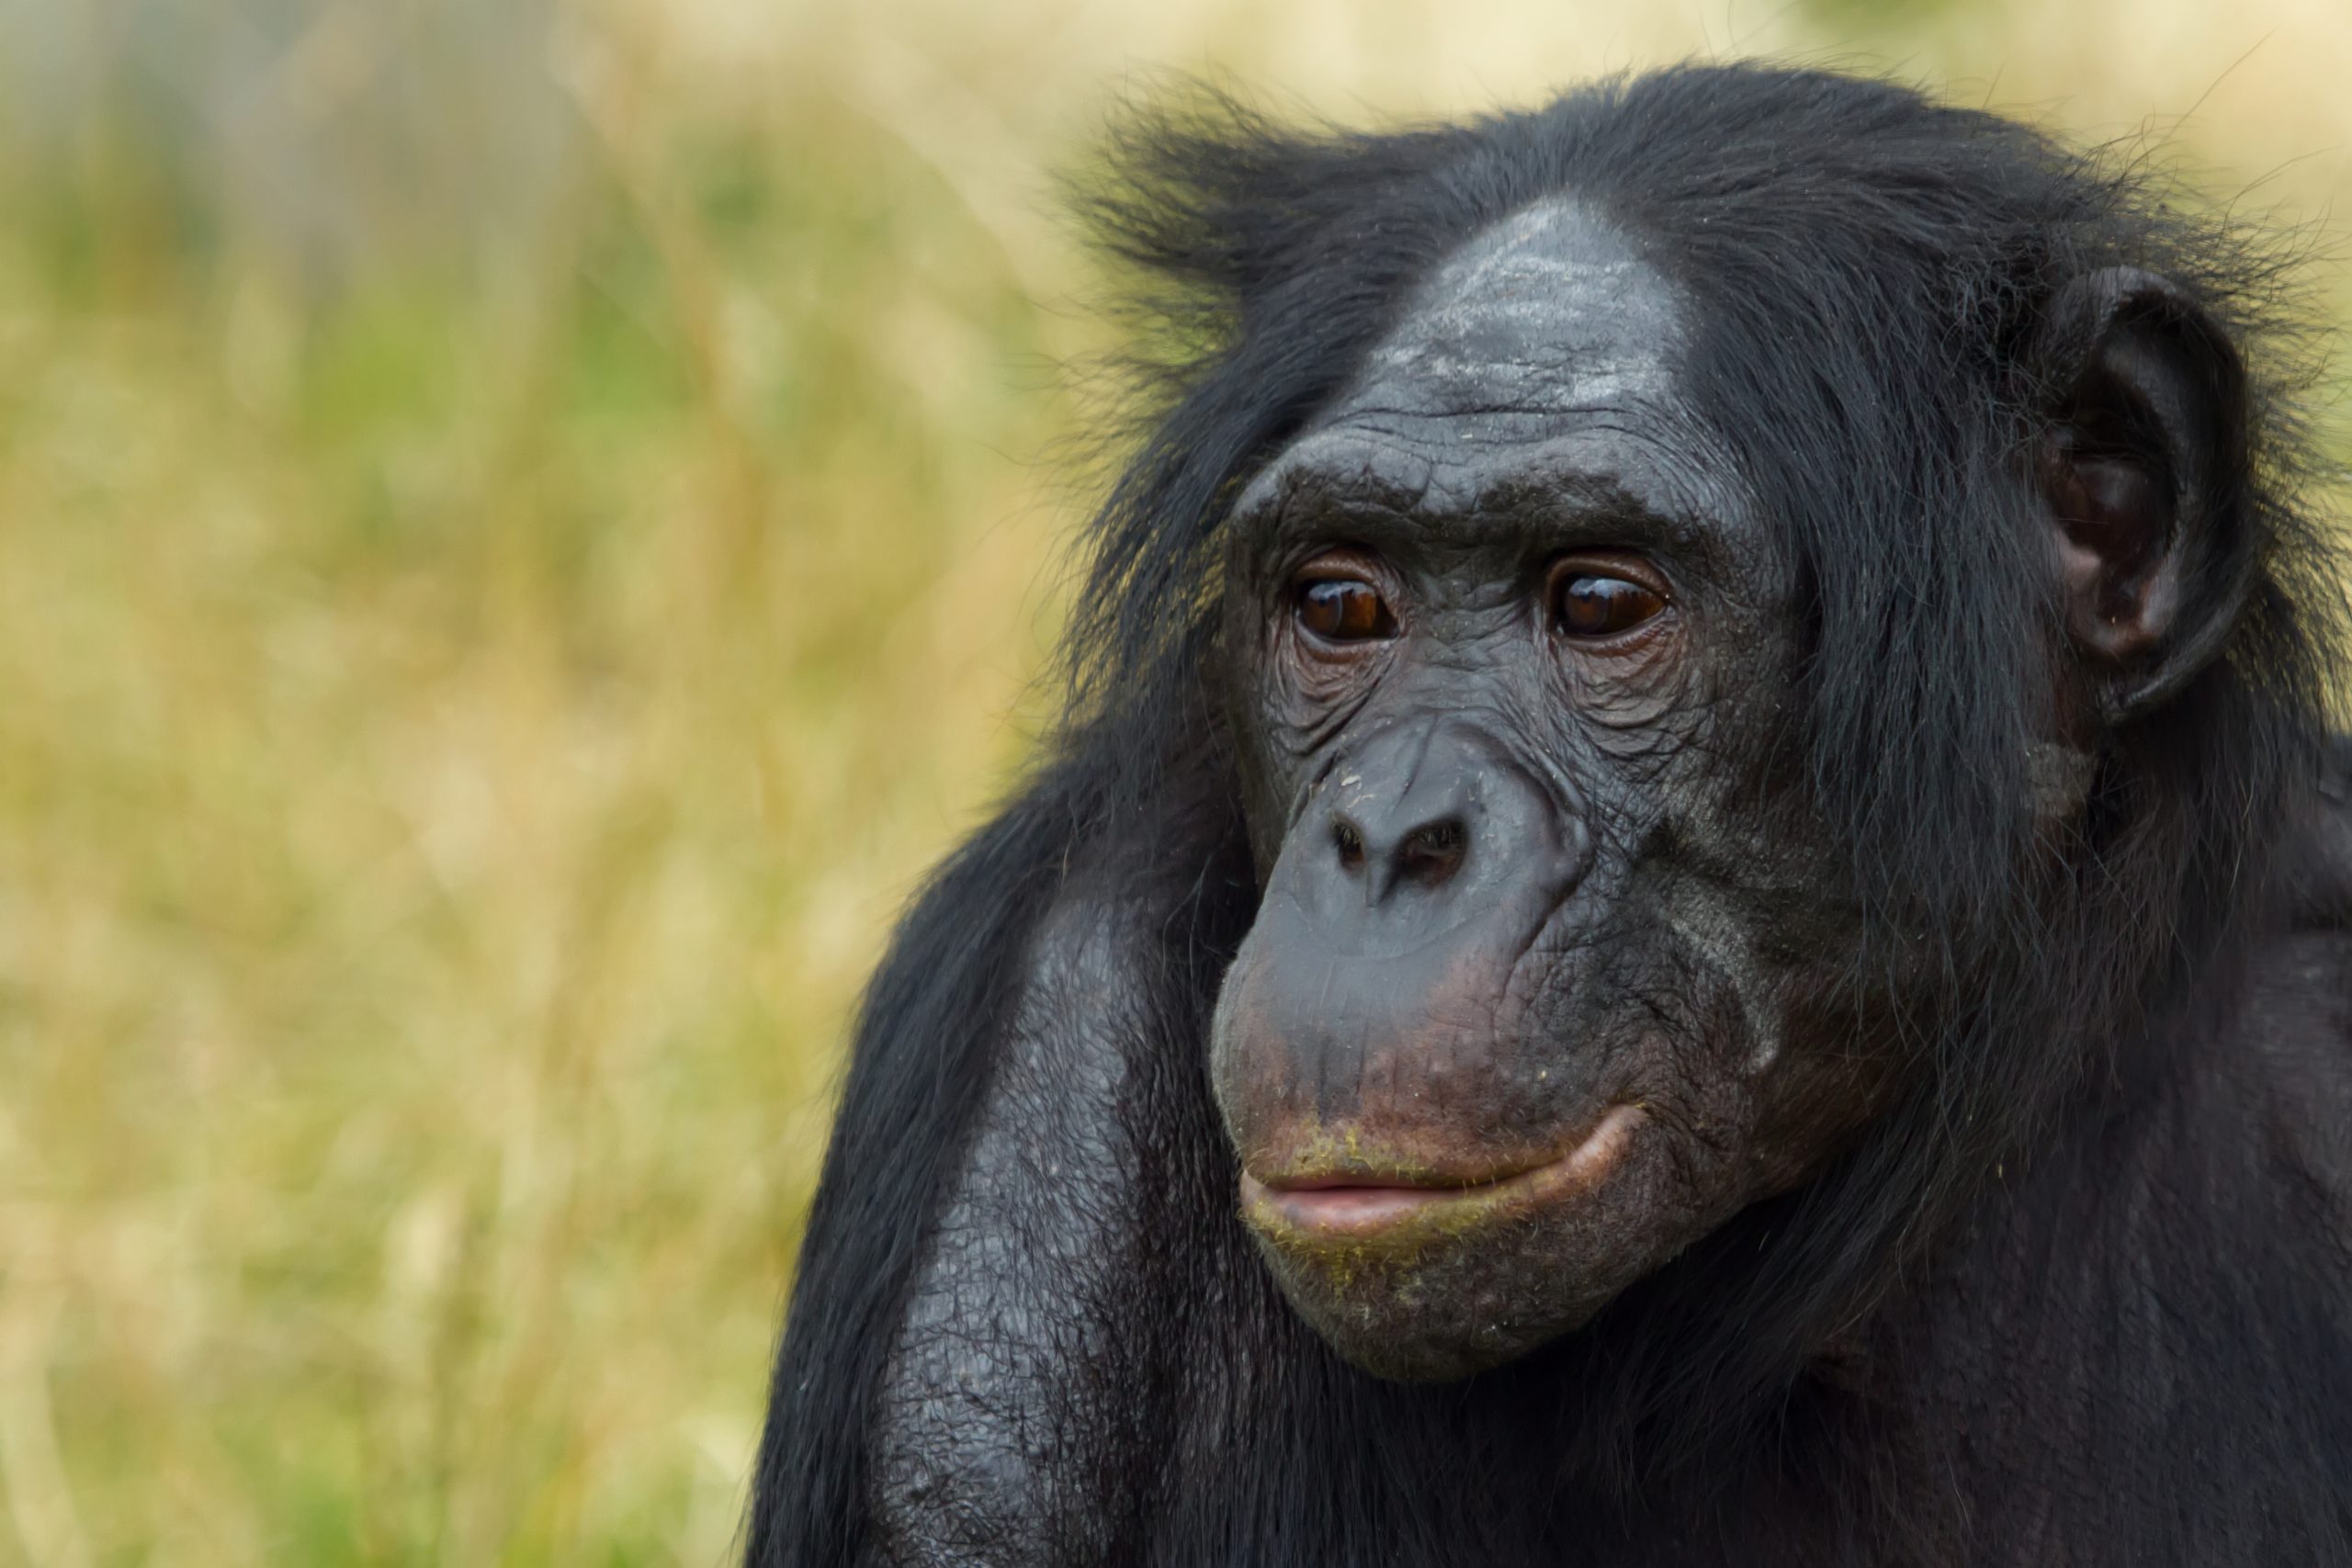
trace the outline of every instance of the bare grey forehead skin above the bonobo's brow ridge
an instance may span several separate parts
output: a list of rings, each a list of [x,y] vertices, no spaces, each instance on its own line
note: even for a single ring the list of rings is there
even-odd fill
[[[1675,393],[1682,331],[1675,287],[1618,228],[1571,197],[1524,207],[1421,284],[1237,510],[1312,487],[1463,515],[1501,487],[1552,484],[1719,515]]]

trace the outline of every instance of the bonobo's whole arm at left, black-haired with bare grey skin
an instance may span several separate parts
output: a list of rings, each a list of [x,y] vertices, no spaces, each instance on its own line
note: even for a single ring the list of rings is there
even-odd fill
[[[1207,1103],[1183,1037],[1204,1027],[1218,954],[1200,905],[1225,877],[1214,844],[1167,832],[1157,867],[1134,865],[1143,846],[1089,856],[1080,816],[1054,780],[1009,809],[875,978],[776,1368],[753,1566],[1098,1561],[1112,1497],[1148,1490],[1162,1356],[1131,1298],[1160,1269],[1138,1265],[1138,1190],[1171,1159],[1162,1124],[1202,1121],[1155,1103]],[[1197,1133],[1176,1143],[1214,1145]],[[1162,1197],[1204,1201],[1167,1192],[1202,1180],[1176,1166],[1152,1173]]]

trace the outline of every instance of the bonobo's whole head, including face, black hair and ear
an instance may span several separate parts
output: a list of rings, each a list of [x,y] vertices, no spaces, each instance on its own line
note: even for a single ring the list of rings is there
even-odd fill
[[[1223,261],[1218,374],[1287,395],[1211,522],[1263,889],[1211,1081],[1282,1291],[1395,1378],[1990,1171],[2201,940],[2227,827],[2150,736],[2277,750],[2232,649],[2288,548],[2234,303],[2027,132],[1672,73],[1451,136]]]

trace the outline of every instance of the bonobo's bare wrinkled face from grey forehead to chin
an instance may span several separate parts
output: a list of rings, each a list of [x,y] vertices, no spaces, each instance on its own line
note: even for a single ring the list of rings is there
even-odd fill
[[[1684,331],[1621,233],[1526,209],[1235,508],[1265,891],[1211,1081],[1282,1291],[1381,1375],[1578,1328],[1886,1091],[1820,1018],[1849,912],[1762,776],[1790,571]]]

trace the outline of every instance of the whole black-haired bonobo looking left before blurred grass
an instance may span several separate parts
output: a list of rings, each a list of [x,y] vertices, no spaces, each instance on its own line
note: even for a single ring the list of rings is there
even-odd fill
[[[750,1561],[2352,1563],[2293,256],[1771,66],[1105,167],[1157,402]]]

